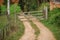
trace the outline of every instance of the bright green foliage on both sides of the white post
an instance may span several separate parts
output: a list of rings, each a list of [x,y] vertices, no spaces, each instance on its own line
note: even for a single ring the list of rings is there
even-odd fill
[[[12,14],[12,13],[18,13],[18,12],[20,12],[20,11],[21,11],[21,8],[20,8],[20,6],[18,6],[17,4],[12,4],[12,5],[10,6],[10,13],[11,13],[11,14]],[[6,6],[5,6],[5,5],[2,5],[2,6],[1,6],[1,15],[6,14],[6,12],[7,12]]]

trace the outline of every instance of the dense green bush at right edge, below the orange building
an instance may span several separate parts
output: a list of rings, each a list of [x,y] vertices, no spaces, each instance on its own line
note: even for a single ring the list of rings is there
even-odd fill
[[[49,12],[49,23],[59,26],[60,24],[60,9],[56,8]]]

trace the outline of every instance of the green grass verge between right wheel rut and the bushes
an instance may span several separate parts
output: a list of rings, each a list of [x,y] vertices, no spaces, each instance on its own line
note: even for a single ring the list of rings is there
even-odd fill
[[[57,40],[60,40],[60,28],[58,28],[55,25],[50,24],[48,21],[42,21],[42,23],[52,31],[52,33],[54,34],[54,37]]]

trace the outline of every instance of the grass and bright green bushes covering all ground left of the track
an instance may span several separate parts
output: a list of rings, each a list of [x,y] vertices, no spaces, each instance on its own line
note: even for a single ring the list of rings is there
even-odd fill
[[[23,22],[18,19],[17,15],[20,11],[20,6],[12,4],[10,6],[9,20],[6,13],[6,6],[1,6],[0,29],[4,32],[4,35],[3,33],[0,33],[2,34],[1,40],[19,40],[24,34],[25,27]]]

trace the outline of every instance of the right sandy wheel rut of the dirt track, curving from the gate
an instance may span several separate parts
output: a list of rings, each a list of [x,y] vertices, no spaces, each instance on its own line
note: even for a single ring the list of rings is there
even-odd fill
[[[30,20],[32,20],[32,22],[36,24],[36,26],[40,29],[40,35],[38,36],[38,40],[56,40],[52,32],[36,18],[31,17]]]

